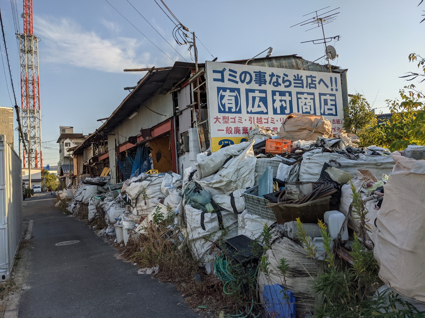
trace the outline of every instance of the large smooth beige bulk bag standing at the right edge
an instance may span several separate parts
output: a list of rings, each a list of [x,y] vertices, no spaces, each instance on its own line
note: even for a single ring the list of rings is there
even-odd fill
[[[425,160],[391,154],[396,165],[377,213],[379,276],[402,296],[425,303]]]

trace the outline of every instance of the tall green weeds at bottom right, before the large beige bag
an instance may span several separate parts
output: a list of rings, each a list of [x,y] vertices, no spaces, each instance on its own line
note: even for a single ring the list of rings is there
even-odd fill
[[[356,192],[352,183],[351,189],[353,192],[352,212],[360,220],[359,232],[364,242],[369,228],[366,224],[367,210],[360,193]],[[398,295],[378,293],[376,297],[373,297],[375,290],[382,285],[378,276],[379,265],[373,251],[363,247],[356,233],[354,233],[354,244],[350,252],[353,266],[344,267],[343,264],[337,265],[334,262],[329,233],[321,220],[318,224],[327,254],[325,261],[328,262],[328,267],[325,267],[323,273],[314,279],[314,290],[323,295],[322,301],[316,307],[315,317],[423,317],[424,313],[418,312],[413,305],[403,302]],[[399,310],[397,305],[404,307]]]

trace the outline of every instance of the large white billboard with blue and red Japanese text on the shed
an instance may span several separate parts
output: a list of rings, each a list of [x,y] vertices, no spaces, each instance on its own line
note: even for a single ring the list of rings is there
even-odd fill
[[[292,112],[343,124],[339,73],[206,62],[212,151],[244,141],[252,125],[279,130]]]

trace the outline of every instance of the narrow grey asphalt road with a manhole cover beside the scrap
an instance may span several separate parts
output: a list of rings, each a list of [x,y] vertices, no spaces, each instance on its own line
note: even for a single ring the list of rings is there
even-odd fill
[[[63,215],[50,193],[26,199],[24,219],[34,220],[33,248],[18,317],[199,317],[173,285],[138,274],[85,223]],[[71,240],[79,242],[55,245]]]

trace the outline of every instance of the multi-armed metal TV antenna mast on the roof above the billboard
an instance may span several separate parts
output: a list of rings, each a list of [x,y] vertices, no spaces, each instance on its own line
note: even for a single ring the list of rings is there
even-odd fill
[[[331,45],[327,45],[327,43],[331,42],[332,40],[337,42],[341,39],[341,36],[337,35],[337,36],[326,37],[325,36],[325,29],[323,28],[323,25],[333,22],[337,18],[337,14],[339,14],[340,12],[334,12],[334,11],[337,11],[339,9],[339,7],[338,7],[338,8],[335,8],[335,9],[332,9],[332,10],[329,10],[329,11],[326,11],[324,13],[319,14],[319,11],[325,10],[327,8],[330,8],[330,6],[327,6],[325,8],[321,8],[317,11],[313,11],[313,12],[310,12],[308,14],[304,14],[303,17],[309,16],[310,14],[313,14],[313,17],[310,17],[309,19],[307,19],[303,22],[292,25],[291,28],[296,26],[296,25],[313,26],[312,28],[309,28],[306,31],[310,31],[310,30],[313,30],[315,28],[322,28],[323,38],[310,40],[310,41],[304,41],[304,42],[301,42],[301,43],[308,43],[308,42],[312,42],[313,44],[322,44],[323,43],[323,46],[325,48],[325,55],[314,60],[313,62],[315,62],[315,61],[326,56],[326,60],[328,61],[329,70],[330,70],[331,69],[330,60],[334,60],[338,56],[338,54],[336,53],[335,48]],[[311,63],[309,63],[309,64],[311,64]],[[307,64],[307,65],[309,65],[309,64]],[[306,67],[307,65],[305,65],[304,67]]]

